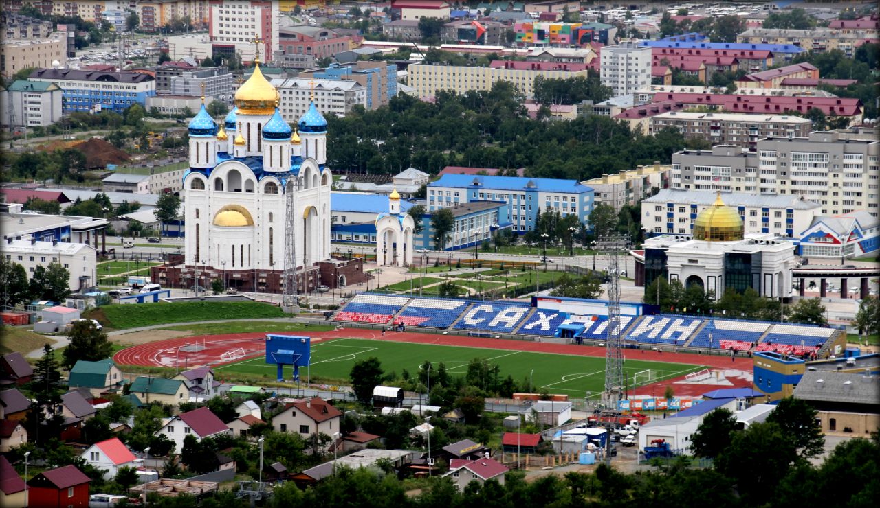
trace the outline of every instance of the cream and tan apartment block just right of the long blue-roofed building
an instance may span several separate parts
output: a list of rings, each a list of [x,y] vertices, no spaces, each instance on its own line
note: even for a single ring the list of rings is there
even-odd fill
[[[654,163],[652,166],[637,166],[634,170],[602,175],[581,183],[592,187],[597,205],[605,203],[620,211],[624,205],[634,205],[648,198],[654,189],[668,187],[671,171],[670,164]]]

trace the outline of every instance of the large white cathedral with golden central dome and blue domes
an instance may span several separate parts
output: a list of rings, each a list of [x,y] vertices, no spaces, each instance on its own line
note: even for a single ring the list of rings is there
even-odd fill
[[[224,279],[246,291],[277,290],[284,272],[286,200],[293,185],[298,291],[320,283],[330,258],[330,189],[326,120],[315,107],[292,128],[280,96],[260,71],[235,94],[223,122],[204,104],[189,122],[189,170],[183,178],[187,223],[181,286]],[[202,102],[204,102],[202,100]]]

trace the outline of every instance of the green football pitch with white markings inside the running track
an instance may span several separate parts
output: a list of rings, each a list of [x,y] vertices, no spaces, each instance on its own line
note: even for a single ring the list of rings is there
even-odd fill
[[[426,345],[405,342],[389,342],[362,338],[339,338],[328,342],[312,344],[312,365],[300,367],[300,376],[306,381],[308,376],[319,379],[348,380],[348,374],[356,361],[376,357],[382,363],[385,373],[402,374],[406,369],[415,375],[425,360],[436,367],[444,363],[452,375],[464,375],[467,364],[475,358],[487,359],[499,366],[502,377],[509,374],[517,381],[532,375],[533,391],[583,396],[585,392],[598,394],[605,385],[605,359],[545,352],[524,352],[452,345]],[[650,371],[654,381],[696,372],[705,366],[679,363],[661,363],[627,359],[624,370],[627,385],[634,385],[634,374]],[[532,369],[534,374],[532,374]],[[266,363],[264,357],[247,359],[235,364],[215,367],[217,375],[244,374],[254,377],[275,379],[276,367]],[[311,371],[311,372],[310,372]],[[290,367],[284,369],[285,379],[290,379]],[[643,374],[638,384],[647,381]]]

